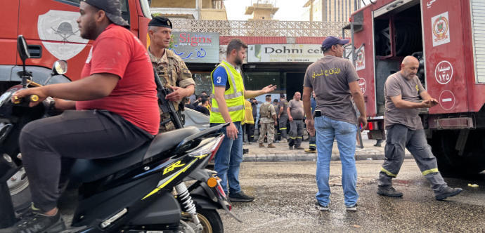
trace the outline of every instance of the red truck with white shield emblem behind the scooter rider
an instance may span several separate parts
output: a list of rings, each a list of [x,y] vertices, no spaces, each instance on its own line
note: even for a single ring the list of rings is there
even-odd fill
[[[121,0],[122,18],[133,34],[148,44],[148,22],[151,19],[148,0]],[[0,1],[0,93],[20,84],[17,72],[22,61],[17,55],[17,36],[22,34],[29,44],[31,58],[27,69],[35,82],[44,84],[56,60],[67,60],[64,76],[54,76],[48,84],[75,81],[93,41],[79,36],[77,18],[79,0]]]

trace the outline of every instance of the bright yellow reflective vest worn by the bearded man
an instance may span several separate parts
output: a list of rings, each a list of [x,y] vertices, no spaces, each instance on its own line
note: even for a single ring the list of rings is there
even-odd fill
[[[221,64],[216,67],[216,69],[219,67],[223,67],[228,76],[230,87],[224,92],[224,99],[226,100],[226,105],[229,115],[231,115],[231,120],[233,122],[243,121],[245,114],[243,77],[237,70],[234,69],[232,65],[226,61],[222,61]],[[216,69],[214,69],[214,71]],[[212,79],[212,93],[216,95],[214,87],[214,71],[212,71],[210,77]],[[219,110],[219,105],[217,104],[217,100],[215,98],[212,99],[210,123],[226,123],[222,117],[221,111]]]

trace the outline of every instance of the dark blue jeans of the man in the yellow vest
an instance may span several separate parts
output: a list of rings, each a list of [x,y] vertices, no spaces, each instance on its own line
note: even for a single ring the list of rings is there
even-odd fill
[[[219,125],[212,123],[210,126]],[[243,128],[241,122],[234,122],[235,128],[238,128],[238,138],[231,140],[228,138],[226,128],[221,128],[217,133],[224,133],[226,137],[222,140],[221,146],[214,157],[214,171],[217,176],[221,178],[221,185],[224,192],[227,192],[227,185],[229,182],[229,192],[232,194],[241,192],[239,185],[239,166],[243,161]]]

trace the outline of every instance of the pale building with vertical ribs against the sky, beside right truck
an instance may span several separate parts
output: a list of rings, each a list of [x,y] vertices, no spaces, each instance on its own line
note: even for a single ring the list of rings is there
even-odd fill
[[[313,6],[311,2],[313,2]],[[350,15],[361,8],[361,1],[309,0],[303,7],[308,7],[308,11],[302,15],[302,21],[348,22]]]

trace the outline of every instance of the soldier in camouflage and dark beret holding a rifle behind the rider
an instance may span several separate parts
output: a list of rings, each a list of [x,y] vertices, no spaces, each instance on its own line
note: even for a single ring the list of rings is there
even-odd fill
[[[148,23],[148,34],[150,36],[148,55],[162,84],[174,90],[167,95],[167,100],[174,103],[175,110],[180,114],[185,108],[185,103],[188,102],[188,96],[193,95],[195,91],[195,81],[186,63],[173,51],[167,49],[172,40],[172,22],[168,18],[157,16]],[[170,119],[170,114],[160,109],[160,122],[167,119]],[[169,121],[167,124],[160,125],[159,133],[174,129],[174,123]]]

